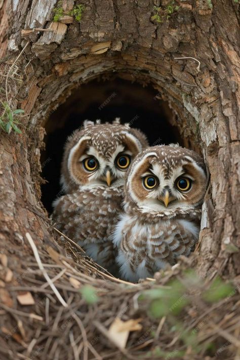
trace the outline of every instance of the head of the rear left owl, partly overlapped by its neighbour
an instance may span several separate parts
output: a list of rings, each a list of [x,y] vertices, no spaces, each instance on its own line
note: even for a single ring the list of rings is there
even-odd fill
[[[124,184],[124,177],[133,158],[148,145],[145,135],[121,125],[119,118],[112,124],[85,121],[65,144],[61,184],[65,192],[79,186]]]

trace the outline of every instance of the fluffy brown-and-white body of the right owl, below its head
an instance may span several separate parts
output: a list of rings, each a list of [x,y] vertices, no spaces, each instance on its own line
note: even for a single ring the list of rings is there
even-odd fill
[[[179,255],[188,256],[198,232],[186,219],[141,223],[136,216],[124,215],[113,235],[121,275],[130,281],[152,277],[167,264],[173,265]]]

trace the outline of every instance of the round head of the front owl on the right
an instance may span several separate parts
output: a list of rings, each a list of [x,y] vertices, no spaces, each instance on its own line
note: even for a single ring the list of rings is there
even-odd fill
[[[204,161],[196,152],[178,145],[148,147],[129,168],[125,209],[155,219],[194,215],[201,211],[206,185]]]

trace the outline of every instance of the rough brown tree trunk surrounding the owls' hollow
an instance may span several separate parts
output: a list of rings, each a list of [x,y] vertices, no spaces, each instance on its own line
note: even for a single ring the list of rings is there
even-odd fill
[[[13,272],[11,286],[26,285],[22,274],[35,262],[26,233],[43,262],[50,258],[46,250],[56,235],[50,230],[40,190],[40,154],[48,118],[73,89],[100,75],[110,78],[116,73],[151,84],[177,114],[171,122],[185,146],[200,149],[204,155],[210,183],[196,249],[199,275],[218,273],[232,278],[240,274],[239,4],[233,0],[176,0],[172,11],[170,3],[83,0],[85,10],[78,22],[71,15],[72,0],[63,0],[61,6],[55,0],[0,1],[0,97],[11,109],[25,111],[19,125],[22,134],[2,132],[0,142],[1,253],[3,266],[4,254]],[[54,7],[65,15],[57,22],[53,21]],[[21,307],[11,300],[11,287],[3,289],[5,321],[14,326],[20,314],[10,315],[6,306],[19,311]],[[29,319],[29,327],[33,322]],[[31,339],[26,335],[24,341],[16,341],[19,348],[11,353],[3,340],[2,358],[33,358]],[[34,356],[40,358],[40,352],[42,349]],[[45,358],[50,358],[47,352]]]

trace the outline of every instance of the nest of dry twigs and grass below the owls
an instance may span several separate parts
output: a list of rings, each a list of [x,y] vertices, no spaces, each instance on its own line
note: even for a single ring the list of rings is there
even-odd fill
[[[15,269],[0,257],[1,359],[239,359],[237,279],[198,278],[194,255],[131,284],[70,239],[24,242]]]

